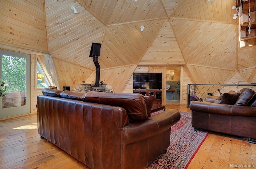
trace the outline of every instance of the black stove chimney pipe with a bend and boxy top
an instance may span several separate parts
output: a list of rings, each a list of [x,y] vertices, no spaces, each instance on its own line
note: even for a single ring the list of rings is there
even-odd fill
[[[93,63],[96,67],[95,86],[100,86],[100,64],[98,63],[98,56],[100,56],[101,43],[92,43],[90,57],[93,57]]]

